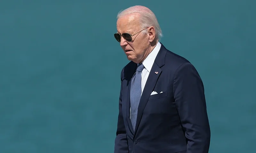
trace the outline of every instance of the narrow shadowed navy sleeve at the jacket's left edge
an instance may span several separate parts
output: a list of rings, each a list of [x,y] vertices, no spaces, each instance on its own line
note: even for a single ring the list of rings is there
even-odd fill
[[[122,113],[122,88],[123,88],[123,71],[121,72],[121,90],[120,90],[120,97],[119,97],[119,114],[117,120],[117,130],[116,130],[116,139],[115,139],[115,149],[114,153],[128,153],[128,142],[126,137],[126,131],[124,127],[124,119]]]

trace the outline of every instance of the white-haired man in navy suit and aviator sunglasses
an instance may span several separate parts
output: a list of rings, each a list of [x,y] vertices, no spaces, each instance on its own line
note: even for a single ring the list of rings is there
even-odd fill
[[[159,42],[155,14],[133,6],[117,16],[121,72],[115,153],[207,153],[210,126],[203,82],[185,58]]]

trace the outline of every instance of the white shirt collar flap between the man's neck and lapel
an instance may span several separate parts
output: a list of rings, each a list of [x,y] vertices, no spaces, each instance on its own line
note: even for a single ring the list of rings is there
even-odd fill
[[[161,47],[161,44],[158,41],[156,44],[156,47],[152,50],[152,52],[148,55],[148,57],[146,57],[146,59],[142,62],[142,64],[144,65],[145,69],[148,70],[148,72],[150,72],[155,62],[156,55],[158,54],[160,47]]]

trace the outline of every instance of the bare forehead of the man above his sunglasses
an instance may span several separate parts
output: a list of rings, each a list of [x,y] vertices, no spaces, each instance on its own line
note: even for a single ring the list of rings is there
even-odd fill
[[[116,22],[116,28],[119,33],[132,33],[140,28],[138,15],[127,15],[119,18]]]

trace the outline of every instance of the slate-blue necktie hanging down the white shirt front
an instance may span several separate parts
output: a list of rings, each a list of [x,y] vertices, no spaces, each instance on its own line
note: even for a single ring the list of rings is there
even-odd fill
[[[131,91],[130,91],[130,101],[131,101],[131,115],[130,119],[132,122],[133,131],[135,130],[138,106],[141,97],[141,71],[144,69],[142,63],[138,64],[135,74],[132,77]]]

